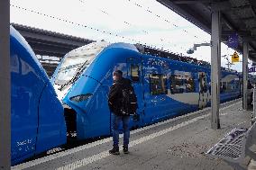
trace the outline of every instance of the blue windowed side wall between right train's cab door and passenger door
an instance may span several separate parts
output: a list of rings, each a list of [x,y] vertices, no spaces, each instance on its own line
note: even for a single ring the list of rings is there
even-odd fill
[[[189,93],[182,77],[192,78],[184,63],[166,58],[143,56],[145,89],[145,124],[197,110],[196,85]],[[189,95],[189,97],[187,97]]]

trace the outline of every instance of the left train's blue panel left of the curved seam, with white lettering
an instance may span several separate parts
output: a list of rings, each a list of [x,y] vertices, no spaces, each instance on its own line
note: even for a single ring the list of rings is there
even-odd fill
[[[32,50],[18,32],[11,28],[11,119],[12,163],[35,153],[38,128],[38,107],[44,79],[32,60]]]

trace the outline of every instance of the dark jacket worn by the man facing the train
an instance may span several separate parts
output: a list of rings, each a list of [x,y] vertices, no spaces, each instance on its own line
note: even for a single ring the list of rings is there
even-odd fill
[[[131,80],[122,78],[114,81],[114,84],[110,87],[110,92],[108,94],[108,106],[109,110],[116,115],[121,115],[123,89],[129,86],[131,86]]]

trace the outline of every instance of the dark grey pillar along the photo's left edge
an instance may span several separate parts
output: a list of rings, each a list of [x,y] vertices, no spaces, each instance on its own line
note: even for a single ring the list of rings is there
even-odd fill
[[[0,0],[0,170],[11,169],[10,0]]]

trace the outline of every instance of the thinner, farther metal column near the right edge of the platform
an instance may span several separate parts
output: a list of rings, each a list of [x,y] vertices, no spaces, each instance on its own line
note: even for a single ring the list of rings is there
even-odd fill
[[[242,46],[242,109],[247,110],[248,42],[243,41]]]

